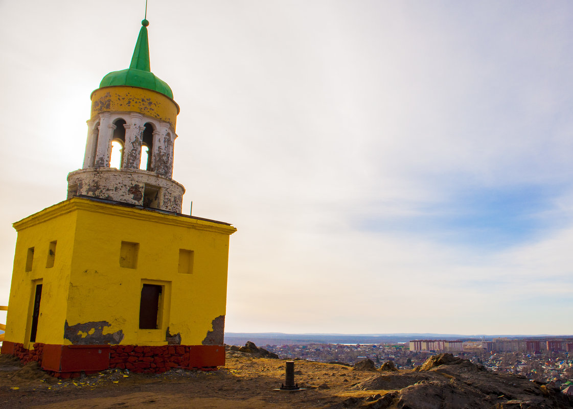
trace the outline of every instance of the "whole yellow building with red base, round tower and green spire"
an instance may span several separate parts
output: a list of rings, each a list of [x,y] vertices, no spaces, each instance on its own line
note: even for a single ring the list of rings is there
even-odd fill
[[[84,166],[68,176],[68,200],[14,223],[2,354],[57,376],[225,362],[236,229],[181,213],[185,188],[171,178],[179,106],[148,69],[146,23],[130,68],[92,93]],[[110,166],[112,142],[119,168]]]

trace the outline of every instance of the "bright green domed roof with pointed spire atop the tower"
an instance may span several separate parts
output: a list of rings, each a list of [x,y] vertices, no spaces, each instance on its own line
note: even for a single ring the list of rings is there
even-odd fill
[[[173,99],[173,92],[166,82],[156,77],[150,69],[149,41],[147,39],[147,20],[142,21],[138,42],[135,44],[134,55],[127,70],[113,71],[103,78],[100,88],[113,85],[137,86],[159,92]]]

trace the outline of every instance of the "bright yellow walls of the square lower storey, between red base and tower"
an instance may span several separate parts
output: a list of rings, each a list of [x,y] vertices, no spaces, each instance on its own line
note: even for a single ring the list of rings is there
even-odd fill
[[[45,218],[43,213],[56,211],[60,215],[50,221],[62,227],[52,229],[48,221],[34,224]],[[64,223],[68,219],[75,223],[72,228]],[[64,333],[67,321],[85,343],[100,334],[99,340],[107,337],[109,343],[121,339],[121,344],[164,345],[169,328],[171,335],[180,335],[181,344],[201,345],[213,320],[225,315],[229,235],[236,231],[232,226],[72,198],[14,227],[18,242],[6,340],[22,342],[25,329],[13,323],[13,316],[28,313],[34,278],[50,283],[49,288],[58,287],[57,300],[52,300],[53,290],[42,292],[37,342],[72,343],[69,332]],[[58,240],[60,273],[52,277],[48,269],[38,267],[34,276],[23,274],[28,247],[46,242],[47,248],[51,240]],[[70,243],[70,251],[60,253],[60,241]],[[138,244],[136,268],[120,266],[122,241]],[[193,273],[179,272],[179,249],[194,252]],[[142,284],[163,286],[158,329],[139,329]],[[54,315],[50,327],[46,314]]]

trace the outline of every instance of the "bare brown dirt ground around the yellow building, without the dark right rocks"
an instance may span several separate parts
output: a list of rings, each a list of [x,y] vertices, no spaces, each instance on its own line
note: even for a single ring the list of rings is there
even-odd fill
[[[284,360],[227,351],[226,366],[213,372],[174,370],[155,375],[108,370],[58,380],[36,363],[21,367],[17,360],[0,355],[0,408],[323,408],[387,392],[351,388],[372,372],[304,360],[295,362],[295,382],[307,389],[273,390],[284,382],[284,374]]]

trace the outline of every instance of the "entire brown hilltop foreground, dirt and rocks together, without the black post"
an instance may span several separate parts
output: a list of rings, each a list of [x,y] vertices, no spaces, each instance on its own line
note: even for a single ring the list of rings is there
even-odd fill
[[[305,389],[276,391],[284,382],[284,360],[263,358],[269,355],[254,345],[234,349],[214,372],[109,370],[73,380],[50,378],[35,363],[22,367],[0,355],[0,408],[573,408],[573,399],[559,390],[492,374],[449,354],[409,371],[297,360],[295,381]]]

